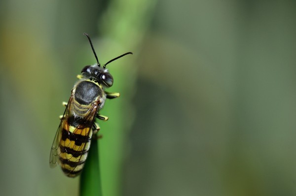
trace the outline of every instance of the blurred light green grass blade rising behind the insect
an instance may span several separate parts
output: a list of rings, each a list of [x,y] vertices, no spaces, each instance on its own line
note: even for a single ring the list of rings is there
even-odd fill
[[[106,130],[106,137],[100,143],[102,186],[106,196],[122,195],[124,160],[128,155],[126,142],[134,118],[131,99],[135,95],[137,69],[141,66],[135,64],[135,59],[141,51],[141,43],[151,24],[156,3],[157,0],[129,0],[128,3],[112,0],[99,20],[98,31],[106,42],[104,46],[104,42],[100,42],[99,50],[103,49],[101,54],[110,51],[111,59],[115,54],[134,53],[134,56],[118,60],[118,66],[115,63],[113,68],[110,66],[116,80],[112,86],[115,90],[111,91],[119,92],[121,97],[108,104],[104,114],[110,116],[111,121],[101,126],[102,130]],[[112,113],[109,114],[109,111]]]

